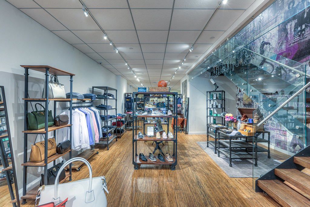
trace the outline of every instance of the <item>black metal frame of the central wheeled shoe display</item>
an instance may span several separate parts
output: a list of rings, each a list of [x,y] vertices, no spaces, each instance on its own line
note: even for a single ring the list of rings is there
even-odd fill
[[[138,156],[138,153],[137,153],[137,139],[135,139],[135,134],[137,135],[138,132],[137,132],[137,118],[139,116],[135,115],[135,106],[136,106],[136,97],[138,95],[144,95],[144,94],[166,94],[166,95],[172,95],[172,99],[173,99],[173,111],[177,111],[177,96],[178,96],[178,93],[177,92],[133,92],[133,101],[135,104],[132,105],[132,112],[133,112],[133,117],[132,117],[132,126],[133,126],[133,130],[132,130],[132,164],[134,165],[134,169],[139,169],[139,165],[141,163],[137,163],[135,162],[135,157]],[[156,98],[156,97],[155,97]],[[165,97],[169,100],[169,96]],[[168,101],[169,102],[169,101]],[[145,104],[145,96],[144,96],[144,104]],[[152,116],[152,117],[161,117],[161,116]],[[170,142],[173,142],[173,155],[172,157],[175,158],[175,162],[171,163],[170,165],[170,169],[171,170],[175,170],[175,165],[177,164],[177,132],[178,132],[178,116],[177,115],[174,115],[174,116],[171,116],[171,118],[175,119],[175,122],[174,122],[174,127],[173,127],[173,136],[175,137],[175,139],[167,139],[165,141],[170,141]],[[168,128],[169,128],[169,118],[168,119]],[[143,121],[144,122],[144,126],[145,126],[145,120]],[[162,141],[154,141],[156,143],[156,147],[155,147],[155,150],[154,152],[158,149],[161,153],[162,153],[162,150],[161,148],[159,147],[159,144],[162,143]],[[153,152],[153,153],[154,153]],[[148,163],[148,164],[159,164],[159,163]]]

